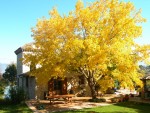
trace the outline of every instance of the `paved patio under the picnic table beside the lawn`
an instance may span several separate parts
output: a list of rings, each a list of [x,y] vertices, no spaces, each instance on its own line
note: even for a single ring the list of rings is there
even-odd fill
[[[95,103],[88,102],[91,97],[74,97],[73,101],[70,103],[66,103],[63,100],[54,101],[54,103],[50,104],[49,100],[29,100],[26,101],[28,107],[34,113],[47,113],[47,112],[56,112],[56,111],[68,111],[68,110],[76,110],[83,108],[92,108],[97,106],[106,106],[111,105],[109,98],[105,97],[107,102]]]

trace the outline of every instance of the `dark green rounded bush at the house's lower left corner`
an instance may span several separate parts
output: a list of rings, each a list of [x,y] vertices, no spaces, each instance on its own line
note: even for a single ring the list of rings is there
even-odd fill
[[[9,100],[11,103],[20,104],[22,101],[25,101],[26,96],[22,88],[11,87],[8,91],[6,100]]]

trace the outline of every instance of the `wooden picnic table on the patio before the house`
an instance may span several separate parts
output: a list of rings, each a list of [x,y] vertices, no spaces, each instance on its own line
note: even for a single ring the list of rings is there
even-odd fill
[[[66,102],[72,102],[72,98],[74,97],[75,95],[73,94],[65,94],[65,95],[49,95],[49,96],[46,96],[47,99],[50,100],[50,104],[52,104],[52,101],[54,102],[56,99],[64,99]]]

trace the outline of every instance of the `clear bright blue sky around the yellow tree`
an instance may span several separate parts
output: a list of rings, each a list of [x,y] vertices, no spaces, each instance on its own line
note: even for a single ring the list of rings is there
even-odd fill
[[[49,17],[48,12],[56,6],[60,13],[74,9],[77,0],[0,0],[0,63],[16,62],[14,51],[32,41],[31,27],[37,19]],[[87,1],[87,0],[84,0]],[[88,0],[94,1],[94,0]],[[136,8],[142,8],[147,19],[143,24],[143,36],[137,42],[150,43],[150,0],[131,1]]]

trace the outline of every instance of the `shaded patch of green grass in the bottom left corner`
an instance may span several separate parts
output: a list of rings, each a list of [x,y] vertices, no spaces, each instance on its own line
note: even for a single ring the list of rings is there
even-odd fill
[[[32,113],[26,104],[10,104],[3,99],[0,99],[0,113]]]

